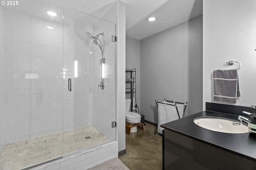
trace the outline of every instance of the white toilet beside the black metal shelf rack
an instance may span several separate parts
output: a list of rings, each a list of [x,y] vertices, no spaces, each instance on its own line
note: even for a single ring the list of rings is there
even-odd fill
[[[125,121],[127,124],[134,125],[137,123],[140,123],[141,116],[138,113],[134,113],[130,111],[130,106],[131,106],[131,101],[130,99],[125,100]],[[137,126],[131,128],[131,133],[137,132]]]

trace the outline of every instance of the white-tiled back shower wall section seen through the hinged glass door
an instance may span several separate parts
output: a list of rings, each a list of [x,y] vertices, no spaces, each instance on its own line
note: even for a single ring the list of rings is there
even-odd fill
[[[89,26],[74,21],[64,25],[64,131],[92,125],[92,56],[85,35],[88,29]],[[74,77],[75,60],[78,61],[77,78]],[[71,92],[68,78],[72,78]]]

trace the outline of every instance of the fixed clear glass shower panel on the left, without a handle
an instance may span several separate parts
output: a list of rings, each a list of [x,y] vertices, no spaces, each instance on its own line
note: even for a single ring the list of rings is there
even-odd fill
[[[1,170],[22,169],[63,155],[63,7],[44,0],[17,2],[0,9],[0,20],[4,14],[0,35],[3,28],[5,39],[0,47],[4,48],[0,60],[5,61]],[[57,16],[48,15],[49,10]]]

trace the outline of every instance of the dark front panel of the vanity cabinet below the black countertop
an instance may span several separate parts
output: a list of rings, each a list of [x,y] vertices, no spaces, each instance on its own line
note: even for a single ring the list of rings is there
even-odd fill
[[[256,170],[256,162],[179,133],[163,131],[163,170],[231,169]]]

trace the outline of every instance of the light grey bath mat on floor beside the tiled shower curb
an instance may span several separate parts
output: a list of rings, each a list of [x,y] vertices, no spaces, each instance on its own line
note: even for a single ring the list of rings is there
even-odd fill
[[[88,170],[129,170],[120,159],[113,158],[101,164],[98,164]]]

